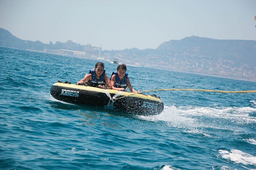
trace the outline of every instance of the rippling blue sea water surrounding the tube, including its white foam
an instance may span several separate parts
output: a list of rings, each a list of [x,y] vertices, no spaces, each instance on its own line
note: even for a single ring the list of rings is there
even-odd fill
[[[256,93],[155,91],[155,116],[59,102],[96,60],[0,48],[0,169],[256,169]],[[117,64],[104,62],[108,76]],[[127,66],[136,90],[255,90],[256,82]]]

